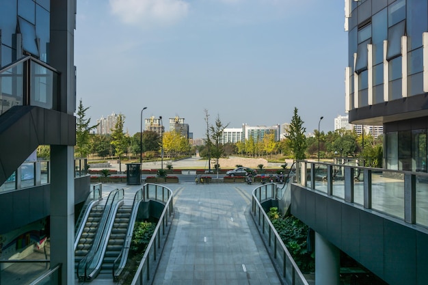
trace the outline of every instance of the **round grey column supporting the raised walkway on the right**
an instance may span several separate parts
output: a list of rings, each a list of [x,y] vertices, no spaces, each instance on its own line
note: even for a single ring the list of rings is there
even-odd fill
[[[339,285],[339,273],[339,249],[315,232],[315,284]]]

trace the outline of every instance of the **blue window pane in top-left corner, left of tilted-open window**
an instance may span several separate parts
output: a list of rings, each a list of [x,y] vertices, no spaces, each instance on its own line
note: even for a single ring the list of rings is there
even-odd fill
[[[16,31],[16,1],[0,1],[0,29],[3,35],[1,43],[12,47],[12,34]]]

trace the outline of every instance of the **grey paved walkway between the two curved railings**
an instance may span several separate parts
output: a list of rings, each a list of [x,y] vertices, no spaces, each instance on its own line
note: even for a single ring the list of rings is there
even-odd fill
[[[280,284],[250,217],[254,185],[171,186],[174,221],[153,284]]]

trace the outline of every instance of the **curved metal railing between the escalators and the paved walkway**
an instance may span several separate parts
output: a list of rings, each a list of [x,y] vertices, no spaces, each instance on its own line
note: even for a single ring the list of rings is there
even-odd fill
[[[163,187],[162,185],[146,184],[144,185],[142,194],[144,200],[159,200],[165,203],[165,207],[163,208],[161,217],[159,217],[152,239],[150,239],[150,242],[148,243],[146,252],[144,252],[144,256],[139,263],[139,267],[134,275],[131,285],[150,284],[150,278],[155,274],[157,264],[161,258],[163,246],[165,245],[166,238],[170,231],[170,223],[172,222],[174,215],[174,212],[172,211],[173,196],[172,191],[169,188]]]

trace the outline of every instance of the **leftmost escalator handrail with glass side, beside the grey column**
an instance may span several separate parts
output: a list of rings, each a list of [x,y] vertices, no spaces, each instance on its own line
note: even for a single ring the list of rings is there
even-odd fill
[[[83,233],[83,230],[85,228],[85,223],[86,221],[88,221],[88,217],[90,215],[92,208],[98,205],[98,203],[102,199],[103,199],[103,185],[101,183],[93,185],[92,190],[88,194],[88,198],[86,198],[85,204],[83,204],[83,207],[81,209],[81,212],[79,214],[79,217],[77,218],[77,222],[75,225],[75,250],[77,248],[77,245],[79,244],[79,239]]]

